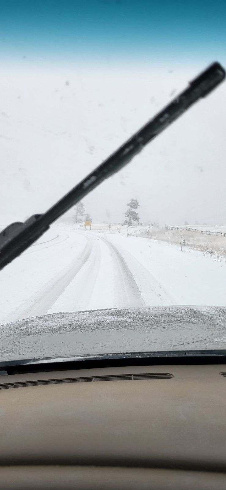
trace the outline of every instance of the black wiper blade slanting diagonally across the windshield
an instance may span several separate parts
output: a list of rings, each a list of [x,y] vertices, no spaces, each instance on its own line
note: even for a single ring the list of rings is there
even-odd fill
[[[147,143],[158,136],[200,98],[205,97],[225,79],[224,68],[217,62],[198,75],[189,87],[160,111],[151,121],[118,148],[107,160],[77,184],[66,196],[44,214],[31,216],[27,221],[12,223],[0,233],[0,269],[18,257],[62,216],[101,182],[124,167]]]

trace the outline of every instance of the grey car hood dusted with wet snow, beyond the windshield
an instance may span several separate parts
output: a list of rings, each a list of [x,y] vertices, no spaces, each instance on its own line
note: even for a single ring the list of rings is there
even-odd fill
[[[64,312],[0,326],[0,361],[225,346],[220,306]]]

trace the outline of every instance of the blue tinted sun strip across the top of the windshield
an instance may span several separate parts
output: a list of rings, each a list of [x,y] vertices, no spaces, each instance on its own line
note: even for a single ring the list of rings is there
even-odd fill
[[[223,0],[0,0],[0,55],[27,62],[224,63],[225,26]]]

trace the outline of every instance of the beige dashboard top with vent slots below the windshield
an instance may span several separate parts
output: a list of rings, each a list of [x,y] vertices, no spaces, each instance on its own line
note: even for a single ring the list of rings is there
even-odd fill
[[[0,489],[226,489],[224,371],[0,376]]]

